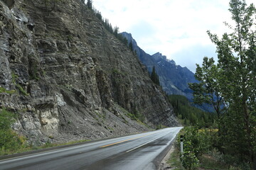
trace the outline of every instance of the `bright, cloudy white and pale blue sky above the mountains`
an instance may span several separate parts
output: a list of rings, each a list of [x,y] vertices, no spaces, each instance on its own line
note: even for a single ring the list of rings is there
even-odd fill
[[[221,36],[229,31],[223,22],[232,24],[228,0],[94,0],[92,5],[120,33],[132,33],[146,53],[161,52],[192,72],[203,57],[217,60],[206,31]]]

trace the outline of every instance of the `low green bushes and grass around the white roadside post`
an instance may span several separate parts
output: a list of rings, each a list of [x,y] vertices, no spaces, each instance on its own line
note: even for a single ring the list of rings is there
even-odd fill
[[[186,127],[178,135],[174,152],[169,164],[173,170],[209,169],[209,170],[243,170],[240,165],[233,165],[232,159],[225,157],[214,147],[218,132],[210,129]],[[183,135],[183,157],[180,151],[180,135]]]

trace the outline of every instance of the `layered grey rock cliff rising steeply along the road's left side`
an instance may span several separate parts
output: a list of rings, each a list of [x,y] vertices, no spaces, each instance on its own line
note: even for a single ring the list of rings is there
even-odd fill
[[[33,142],[178,125],[136,56],[80,0],[0,1],[0,106]],[[129,113],[128,113],[129,112]],[[50,137],[50,139],[49,139]]]

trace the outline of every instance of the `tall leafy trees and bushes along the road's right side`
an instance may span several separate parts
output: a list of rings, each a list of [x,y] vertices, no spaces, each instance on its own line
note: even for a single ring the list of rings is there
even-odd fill
[[[187,125],[183,156],[178,151],[172,155],[180,158],[184,169],[256,169],[256,9],[245,1],[230,0],[229,11],[235,23],[225,23],[230,33],[218,38],[207,31],[218,62],[204,57],[203,64],[197,64],[198,83],[190,84],[194,103],[215,109],[213,122],[204,118],[207,114],[187,111],[181,97],[169,97],[177,101],[176,114]]]

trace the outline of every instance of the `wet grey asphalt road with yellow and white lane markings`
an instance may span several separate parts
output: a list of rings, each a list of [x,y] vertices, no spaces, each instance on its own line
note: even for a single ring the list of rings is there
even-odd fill
[[[150,170],[181,128],[90,142],[0,161],[0,169]]]

